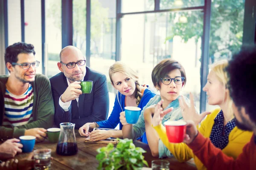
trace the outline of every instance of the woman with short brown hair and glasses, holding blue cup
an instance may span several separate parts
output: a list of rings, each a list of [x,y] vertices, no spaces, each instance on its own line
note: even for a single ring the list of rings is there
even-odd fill
[[[157,132],[151,126],[151,115],[154,113],[156,104],[162,101],[163,112],[167,113],[162,120],[162,124],[167,120],[183,119],[178,98],[181,89],[186,84],[186,73],[179,62],[173,59],[164,59],[154,67],[151,78],[154,87],[160,91],[160,95],[154,96],[148,102],[135,125],[128,124],[125,119],[125,113],[121,112],[122,133],[124,138],[135,140],[146,132],[152,155],[159,157],[170,156],[169,150],[159,140]],[[187,101],[189,100],[187,99]]]

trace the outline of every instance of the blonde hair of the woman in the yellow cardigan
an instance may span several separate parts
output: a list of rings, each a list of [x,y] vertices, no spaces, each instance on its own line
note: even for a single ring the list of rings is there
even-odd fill
[[[211,71],[213,71],[215,73],[215,75],[217,76],[218,80],[223,83],[224,87],[227,88],[227,82],[228,82],[228,77],[227,77],[227,71],[226,68],[228,66],[228,60],[221,60],[218,62],[215,62],[214,64],[212,64],[210,66]],[[233,100],[230,98],[229,95],[229,91],[227,92],[227,96],[225,96],[227,98],[227,108],[228,108],[228,115],[230,117],[234,117],[234,112],[233,112],[233,108],[232,108],[232,104],[233,104]]]

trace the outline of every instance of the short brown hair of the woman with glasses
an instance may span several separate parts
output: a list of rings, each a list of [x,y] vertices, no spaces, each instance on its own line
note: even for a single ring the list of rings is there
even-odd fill
[[[154,87],[160,87],[161,78],[165,77],[170,71],[179,69],[181,77],[184,77],[183,85],[186,85],[186,73],[183,66],[173,59],[163,59],[159,62],[153,69],[151,78],[154,84]]]

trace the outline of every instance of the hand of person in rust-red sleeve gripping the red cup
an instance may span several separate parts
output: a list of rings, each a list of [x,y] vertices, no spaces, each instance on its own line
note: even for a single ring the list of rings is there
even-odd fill
[[[186,123],[186,134],[183,142],[186,144],[190,144],[198,135],[198,130],[192,120],[186,121]]]

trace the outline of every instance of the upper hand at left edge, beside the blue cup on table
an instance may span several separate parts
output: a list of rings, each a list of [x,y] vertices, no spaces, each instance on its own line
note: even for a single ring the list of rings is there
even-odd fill
[[[20,142],[20,140],[9,139],[6,142],[3,142],[3,144],[0,145],[0,158],[9,159],[13,158],[17,153],[21,153],[23,145],[17,142]]]

